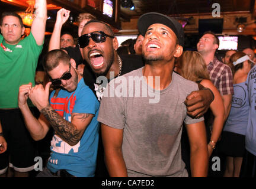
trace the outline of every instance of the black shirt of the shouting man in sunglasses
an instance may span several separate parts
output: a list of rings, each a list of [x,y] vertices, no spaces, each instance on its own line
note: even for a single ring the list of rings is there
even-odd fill
[[[144,61],[142,56],[139,56],[137,54],[124,54],[120,55],[121,61],[122,61],[122,67],[121,67],[121,75],[124,75],[126,73],[129,73],[130,71],[137,70],[141,67],[143,67]],[[91,67],[85,66],[84,68],[84,82],[89,86],[89,88],[94,92],[95,96],[97,97],[95,86],[96,83],[96,76],[91,70]],[[109,82],[109,81],[108,81]]]

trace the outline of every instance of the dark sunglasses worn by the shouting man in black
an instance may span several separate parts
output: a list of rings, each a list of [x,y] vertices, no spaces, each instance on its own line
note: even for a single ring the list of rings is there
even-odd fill
[[[105,34],[103,31],[94,31],[90,32],[89,34],[84,34],[78,37],[78,45],[80,48],[85,48],[89,44],[89,38],[95,43],[103,43],[107,39],[107,37],[114,38],[114,36]]]

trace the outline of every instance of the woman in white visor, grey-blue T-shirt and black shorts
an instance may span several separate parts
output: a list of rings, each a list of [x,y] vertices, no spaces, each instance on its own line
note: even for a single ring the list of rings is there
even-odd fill
[[[223,128],[220,151],[226,155],[226,170],[223,177],[239,177],[249,115],[248,90],[245,82],[254,63],[243,52],[233,54],[230,61],[234,71],[234,94],[231,111]]]

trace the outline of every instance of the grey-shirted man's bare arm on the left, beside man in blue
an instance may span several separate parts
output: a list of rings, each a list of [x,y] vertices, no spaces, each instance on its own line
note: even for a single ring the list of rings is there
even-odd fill
[[[101,123],[101,135],[105,152],[105,164],[110,177],[127,177],[121,146],[123,129],[115,129]]]

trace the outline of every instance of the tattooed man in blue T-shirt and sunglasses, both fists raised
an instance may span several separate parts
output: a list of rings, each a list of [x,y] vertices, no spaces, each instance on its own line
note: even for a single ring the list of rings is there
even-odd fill
[[[18,105],[32,138],[43,139],[53,127],[52,154],[37,177],[94,177],[98,149],[99,102],[76,70],[75,60],[62,50],[46,54],[44,70],[51,82],[20,87]],[[50,84],[60,86],[50,94]],[[39,109],[39,119],[28,109],[27,99]]]

